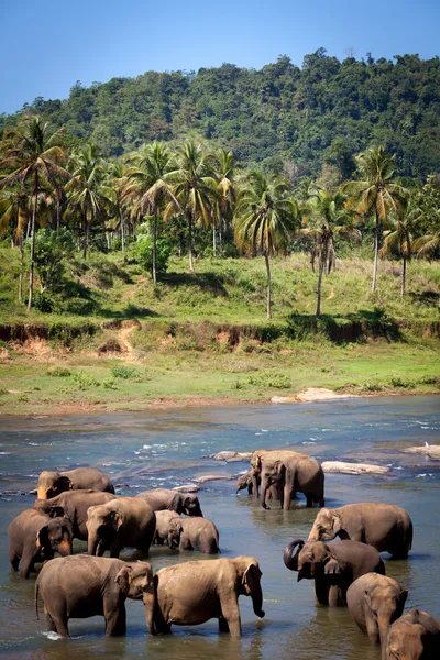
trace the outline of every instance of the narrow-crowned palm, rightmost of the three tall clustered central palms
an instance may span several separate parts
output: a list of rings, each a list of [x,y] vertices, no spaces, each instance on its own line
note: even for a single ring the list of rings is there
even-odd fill
[[[216,204],[216,213],[212,223],[213,254],[216,256],[216,216],[219,221],[219,251],[223,256],[223,230],[232,219],[237,201],[235,173],[238,163],[231,151],[221,147],[207,157],[212,177],[217,182],[219,198]]]

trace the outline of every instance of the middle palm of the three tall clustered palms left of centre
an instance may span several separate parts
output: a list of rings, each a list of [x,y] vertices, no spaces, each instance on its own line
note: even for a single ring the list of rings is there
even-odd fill
[[[188,223],[189,271],[194,273],[193,224],[202,227],[212,223],[213,205],[219,198],[215,178],[200,145],[187,140],[177,148],[173,169],[164,175],[166,183],[173,184],[173,193],[177,198]],[[175,205],[165,209],[164,217],[175,213]]]

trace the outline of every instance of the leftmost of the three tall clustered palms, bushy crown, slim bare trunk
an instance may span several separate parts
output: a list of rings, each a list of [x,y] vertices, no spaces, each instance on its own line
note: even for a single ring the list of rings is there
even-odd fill
[[[157,216],[161,204],[169,200],[170,208],[182,210],[170,184],[165,180],[170,158],[169,150],[161,142],[146,145],[132,158],[134,165],[125,173],[127,184],[122,195],[123,200],[131,202],[134,215],[153,216],[154,284],[157,282]]]

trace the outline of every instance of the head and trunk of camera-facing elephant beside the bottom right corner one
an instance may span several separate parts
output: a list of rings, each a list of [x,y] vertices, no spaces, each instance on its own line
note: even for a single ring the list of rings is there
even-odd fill
[[[398,588],[398,587],[397,587]],[[393,584],[372,584],[364,593],[364,616],[366,629],[378,628],[383,650],[385,650],[389,626],[397,620],[405,607],[407,590],[396,591]]]

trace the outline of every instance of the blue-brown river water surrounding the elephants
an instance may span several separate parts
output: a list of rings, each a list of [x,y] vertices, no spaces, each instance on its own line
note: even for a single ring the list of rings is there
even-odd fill
[[[386,571],[409,590],[407,607],[440,619],[440,462],[402,453],[405,447],[440,443],[440,398],[383,397],[293,406],[211,407],[51,418],[0,418],[0,656],[32,660],[206,658],[263,660],[380,660],[352,623],[346,608],[317,606],[310,581],[296,582],[283,563],[292,539],[307,538],[317,514],[299,496],[293,510],[277,504],[265,512],[245,491],[235,497],[233,481],[208,482],[199,498],[220,531],[221,557],[254,554],[263,571],[266,617],[258,620],[250,598],[240,598],[243,638],[218,635],[217,622],[173,627],[173,635],[146,634],[143,605],[128,601],[128,635],[106,639],[103,619],[74,619],[73,639],[52,639],[44,617],[35,618],[35,575],[22,581],[10,571],[7,527],[33,505],[26,493],[42,470],[91,465],[120,484],[119,494],[174,487],[204,474],[237,475],[246,463],[201,459],[221,450],[292,447],[318,460],[372,462],[392,466],[385,476],[327,475],[330,507],[353,502],[388,502],[407,509],[415,539],[409,560],[384,553]],[[15,493],[6,493],[12,491]],[[20,494],[22,492],[23,494]],[[75,541],[76,551],[86,546]],[[122,559],[129,559],[129,550]],[[154,570],[207,559],[153,548]]]

